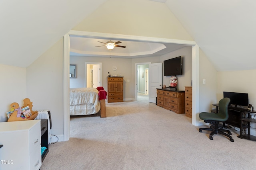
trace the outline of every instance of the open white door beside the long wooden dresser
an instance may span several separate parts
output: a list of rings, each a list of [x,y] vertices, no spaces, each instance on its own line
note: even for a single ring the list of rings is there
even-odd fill
[[[148,102],[156,103],[156,89],[162,88],[162,63],[149,64],[148,82]]]

